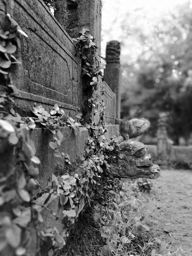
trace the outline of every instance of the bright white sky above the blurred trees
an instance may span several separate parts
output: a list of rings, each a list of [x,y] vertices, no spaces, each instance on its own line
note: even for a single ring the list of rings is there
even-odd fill
[[[149,19],[154,21],[162,15],[169,13],[177,4],[185,2],[188,2],[188,0],[102,0],[103,40],[101,55],[105,56],[105,47],[108,41],[119,40],[118,20],[124,18],[123,16],[125,16],[127,10],[143,9],[143,13],[146,13],[148,21]],[[190,2],[192,5],[192,0]],[[142,25],[145,27],[145,24]]]

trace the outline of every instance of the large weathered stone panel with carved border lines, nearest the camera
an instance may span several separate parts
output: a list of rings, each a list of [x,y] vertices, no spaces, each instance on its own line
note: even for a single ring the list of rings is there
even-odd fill
[[[72,39],[42,0],[0,2],[0,20],[9,13],[28,38],[20,36],[13,81],[19,89],[16,108],[29,115],[33,103],[52,108],[58,104],[71,117],[82,108],[81,65]]]

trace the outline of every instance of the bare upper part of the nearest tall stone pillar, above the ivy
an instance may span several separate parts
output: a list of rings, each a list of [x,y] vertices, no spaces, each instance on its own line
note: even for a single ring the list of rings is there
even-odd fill
[[[78,37],[79,31],[88,27],[100,49],[101,0],[57,0],[54,16],[71,38]]]

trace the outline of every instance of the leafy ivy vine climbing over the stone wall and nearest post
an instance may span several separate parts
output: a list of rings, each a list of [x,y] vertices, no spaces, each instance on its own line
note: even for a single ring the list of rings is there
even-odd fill
[[[86,202],[91,203],[95,191],[100,189],[103,174],[110,175],[110,162],[116,160],[115,152],[118,151],[118,139],[109,141],[105,139],[106,130],[103,128],[102,119],[105,107],[95,93],[100,73],[97,46],[95,38],[88,34],[89,30],[83,28],[76,45],[84,63],[83,76],[90,78],[85,86],[85,92],[90,96],[86,102],[89,107],[100,104],[99,126],[101,127],[100,135],[96,135],[94,124],[86,125],[90,135],[77,167],[84,172],[79,172],[81,173],[79,175],[77,173],[69,175],[73,167],[69,155],[60,152],[63,140],[60,127],[68,126],[76,130],[76,127],[82,126],[80,123],[82,113],[79,112],[74,120],[57,104],[50,112],[42,106],[34,106],[33,117],[23,118],[15,112],[13,103],[17,89],[11,78],[11,67],[20,64],[13,55],[17,48],[20,48],[18,34],[23,36],[27,34],[9,14],[6,16],[5,24],[5,28],[0,30],[0,153],[3,157],[10,158],[10,166],[2,166],[0,174],[0,253],[16,256],[27,254],[30,246],[30,232],[36,229],[40,240],[37,249],[39,254],[41,256],[58,255],[59,250],[65,245],[67,232],[74,227],[79,208]],[[47,188],[42,188],[36,180],[40,160],[36,157],[35,146],[29,137],[29,131],[36,127],[51,132],[53,141],[49,142],[49,146],[54,150],[55,157],[63,159],[65,166],[62,175],[58,177],[51,175],[51,182]],[[46,196],[44,204],[38,201],[35,194],[39,187],[42,189],[41,195]],[[51,195],[59,200],[63,209],[62,218],[47,207]],[[62,234],[56,227],[39,229],[40,223],[43,222],[41,215],[43,209],[49,211],[56,220],[62,221]]]

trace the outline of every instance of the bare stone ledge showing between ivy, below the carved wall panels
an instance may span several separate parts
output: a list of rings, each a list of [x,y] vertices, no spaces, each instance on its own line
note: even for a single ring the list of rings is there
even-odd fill
[[[107,139],[118,135],[119,125],[108,125],[106,128]],[[61,127],[60,131],[64,136],[60,151],[69,154],[70,161],[82,156],[86,146],[85,141],[89,136],[88,129],[77,127],[74,130],[71,127]],[[57,173],[65,163],[60,157],[54,157],[54,151],[49,147],[49,142],[53,141],[49,130],[36,128],[31,132],[31,139],[36,146],[36,156],[41,161],[38,182],[42,187],[46,187],[51,173]]]

